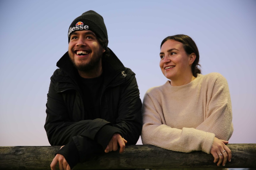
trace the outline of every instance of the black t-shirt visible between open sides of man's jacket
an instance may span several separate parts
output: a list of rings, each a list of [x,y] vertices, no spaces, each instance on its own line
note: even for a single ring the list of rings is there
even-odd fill
[[[103,73],[96,78],[86,79],[80,77],[80,89],[84,103],[84,118],[100,118],[100,95],[103,85]]]

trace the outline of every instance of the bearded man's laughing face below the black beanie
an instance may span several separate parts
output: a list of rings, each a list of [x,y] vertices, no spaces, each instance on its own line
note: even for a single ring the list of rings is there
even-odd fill
[[[78,71],[90,73],[101,69],[104,52],[92,31],[76,31],[70,35],[68,53]]]

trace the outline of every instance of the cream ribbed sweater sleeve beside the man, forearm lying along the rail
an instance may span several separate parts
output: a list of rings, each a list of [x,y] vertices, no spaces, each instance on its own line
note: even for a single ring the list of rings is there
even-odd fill
[[[179,152],[191,152],[211,147],[215,135],[194,128],[172,128],[162,123],[164,117],[161,112],[161,105],[153,102],[146,94],[143,100],[143,144],[155,145],[168,150]],[[207,152],[208,153],[208,152]]]

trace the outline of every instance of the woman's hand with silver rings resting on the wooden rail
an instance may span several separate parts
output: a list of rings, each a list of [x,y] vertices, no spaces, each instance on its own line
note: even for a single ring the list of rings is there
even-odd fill
[[[228,141],[220,140],[217,137],[214,137],[213,144],[211,146],[210,153],[214,157],[214,163],[217,163],[217,166],[225,166],[227,160],[231,162],[231,150],[226,146]]]

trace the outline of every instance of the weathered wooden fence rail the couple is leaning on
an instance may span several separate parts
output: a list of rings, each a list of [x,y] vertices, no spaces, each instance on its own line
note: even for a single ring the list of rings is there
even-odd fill
[[[256,144],[227,146],[232,151],[232,160],[226,163],[225,168],[256,168]],[[50,163],[59,148],[60,146],[2,146],[0,169],[50,169]],[[115,151],[92,156],[74,169],[217,168],[213,160],[211,154],[201,151],[182,153],[152,145],[129,145],[121,154]]]

